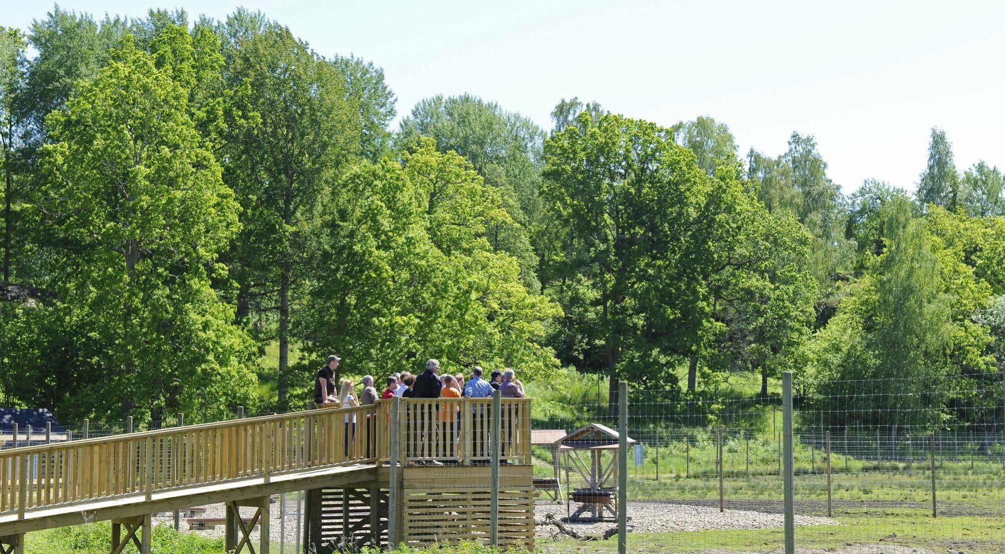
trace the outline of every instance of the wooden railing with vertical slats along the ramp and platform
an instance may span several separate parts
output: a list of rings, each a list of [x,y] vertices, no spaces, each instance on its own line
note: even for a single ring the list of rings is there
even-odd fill
[[[392,401],[0,450],[0,515],[390,459]],[[404,399],[405,463],[490,458],[490,398]],[[504,399],[501,459],[531,463],[529,399]]]

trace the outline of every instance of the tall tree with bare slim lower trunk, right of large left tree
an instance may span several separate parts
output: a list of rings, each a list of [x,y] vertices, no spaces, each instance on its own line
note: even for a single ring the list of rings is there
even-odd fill
[[[221,34],[234,97],[228,182],[243,210],[230,255],[238,314],[277,300],[278,400],[285,401],[291,302],[310,275],[309,226],[328,187],[359,152],[360,119],[336,67],[288,29],[238,11]]]

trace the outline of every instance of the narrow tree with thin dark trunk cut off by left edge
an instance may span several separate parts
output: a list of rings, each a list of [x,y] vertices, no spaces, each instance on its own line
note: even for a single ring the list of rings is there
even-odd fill
[[[3,282],[10,283],[11,235],[14,232],[15,156],[21,125],[15,103],[24,85],[24,35],[18,29],[0,27],[0,150],[3,151]]]

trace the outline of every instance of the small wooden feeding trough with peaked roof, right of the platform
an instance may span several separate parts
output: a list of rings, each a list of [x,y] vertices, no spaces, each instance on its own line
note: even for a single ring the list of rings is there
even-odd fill
[[[565,466],[566,486],[571,471],[586,482],[585,488],[566,496],[567,521],[617,521],[618,438],[614,429],[590,423],[555,441],[554,446],[561,452]],[[635,443],[631,437],[627,440],[629,445]],[[605,451],[611,455],[605,456]],[[589,466],[584,460],[584,452],[589,452]],[[579,506],[570,513],[571,503]],[[589,516],[585,516],[587,513]]]

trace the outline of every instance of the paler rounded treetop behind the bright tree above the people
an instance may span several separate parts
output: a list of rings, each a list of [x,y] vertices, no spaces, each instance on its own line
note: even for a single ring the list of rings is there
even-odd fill
[[[528,287],[540,287],[538,257],[530,229],[541,217],[541,129],[517,113],[470,95],[423,100],[402,120],[400,148],[419,137],[436,141],[441,152],[460,154],[485,183],[498,189],[510,217],[485,229],[492,248],[515,257]]]

